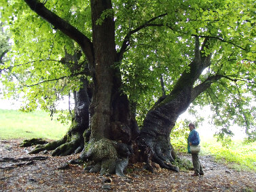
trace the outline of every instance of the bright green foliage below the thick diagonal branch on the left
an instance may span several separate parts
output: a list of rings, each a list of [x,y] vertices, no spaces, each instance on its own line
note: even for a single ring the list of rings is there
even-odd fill
[[[33,22],[35,14],[24,9],[24,6],[24,2],[12,1],[7,7],[1,7],[5,10],[3,17],[12,16],[7,26],[14,41],[12,52],[9,53],[13,59],[5,63],[6,72],[1,74],[1,81],[6,88],[4,94],[22,96],[22,111],[33,111],[39,107],[52,112],[56,109],[57,100],[79,89],[79,77],[73,76],[69,67],[74,64],[73,61],[61,61],[65,50],[74,52],[76,48],[70,39],[53,26],[43,20]],[[29,30],[24,25],[28,25]]]

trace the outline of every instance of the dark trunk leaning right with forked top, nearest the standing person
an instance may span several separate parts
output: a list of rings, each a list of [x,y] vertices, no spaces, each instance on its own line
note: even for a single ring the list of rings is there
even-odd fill
[[[170,144],[170,132],[179,115],[189,107],[189,104],[209,88],[213,81],[220,79],[215,75],[194,86],[202,71],[211,64],[211,54],[205,56],[201,52],[208,46],[208,38],[204,39],[201,49],[199,37],[195,38],[195,42],[195,56],[189,64],[190,70],[184,71],[172,92],[168,96],[162,96],[147,113],[140,134],[151,149],[153,161],[162,168],[174,171],[177,171],[177,168],[170,165],[175,159],[175,152]]]

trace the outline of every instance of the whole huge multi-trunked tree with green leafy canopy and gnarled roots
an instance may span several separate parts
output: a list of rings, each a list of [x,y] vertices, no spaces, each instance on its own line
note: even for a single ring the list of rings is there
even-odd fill
[[[192,102],[211,104],[224,132],[237,121],[255,137],[253,1],[24,0],[1,9],[15,44],[9,87],[26,93],[26,109],[74,93],[66,136],[33,153],[83,149],[80,159],[101,174],[122,175],[128,160],[179,171],[170,132]]]

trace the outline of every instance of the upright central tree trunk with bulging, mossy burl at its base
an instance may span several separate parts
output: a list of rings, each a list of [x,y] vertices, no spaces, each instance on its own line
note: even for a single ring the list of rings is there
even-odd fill
[[[97,24],[101,14],[111,10],[111,1],[91,1],[94,45],[94,93],[90,105],[90,141],[80,157],[90,161],[90,172],[123,175],[131,153],[128,143],[136,124],[131,120],[127,96],[121,93],[120,73],[114,68],[115,24],[113,14]]]

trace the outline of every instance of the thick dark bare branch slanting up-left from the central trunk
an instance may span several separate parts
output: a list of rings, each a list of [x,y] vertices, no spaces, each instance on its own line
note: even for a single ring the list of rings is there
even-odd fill
[[[77,28],[69,24],[67,21],[63,20],[49,9],[47,9],[43,3],[40,3],[38,0],[24,0],[29,7],[36,12],[39,16],[45,19],[50,24],[54,25],[55,28],[58,28],[62,33],[76,41],[83,50],[84,54],[88,58],[90,63],[94,62],[94,52],[93,45],[90,39],[81,33]]]

